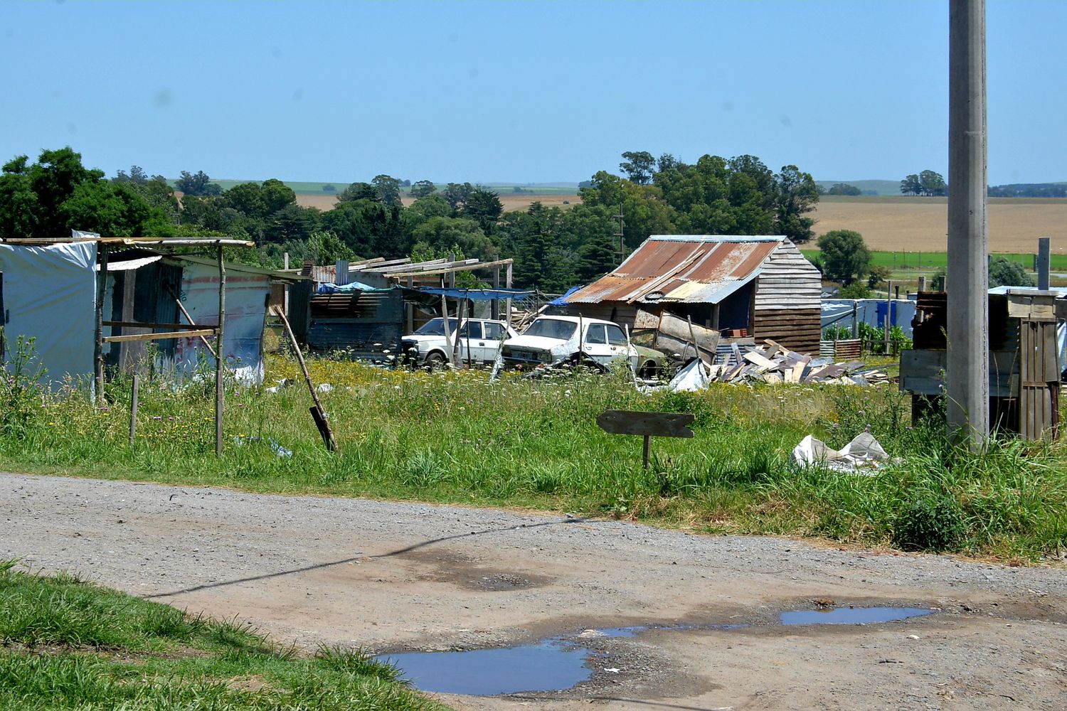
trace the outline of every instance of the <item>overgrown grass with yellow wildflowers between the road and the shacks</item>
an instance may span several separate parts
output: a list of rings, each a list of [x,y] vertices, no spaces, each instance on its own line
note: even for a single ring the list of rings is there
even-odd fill
[[[892,387],[716,385],[650,395],[622,375],[490,383],[480,371],[429,374],[334,360],[314,360],[313,376],[333,386],[323,405],[337,454],[323,450],[302,387],[233,389],[229,438],[216,458],[207,385],[143,383],[139,438],[130,447],[128,384],[109,386],[112,404],[102,411],[78,390],[46,395],[9,384],[0,467],[568,511],[705,533],[822,536],[1004,559],[1039,560],[1067,545],[1062,445],[1004,440],[982,457],[952,453],[941,425],[912,429],[909,401]],[[268,383],[281,377],[300,382],[293,362],[273,358]],[[609,408],[692,413],[696,437],[655,440],[654,466],[646,471],[640,438],[596,426],[596,415]],[[864,431],[897,464],[872,476],[789,464],[805,435],[841,447]],[[947,537],[913,543],[909,531],[924,526],[947,527]]]

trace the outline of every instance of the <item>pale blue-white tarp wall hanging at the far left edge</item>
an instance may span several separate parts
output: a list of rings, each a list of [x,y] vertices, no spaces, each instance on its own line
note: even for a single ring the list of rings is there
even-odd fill
[[[34,337],[37,363],[54,387],[93,373],[96,243],[0,244],[6,356],[19,336]]]

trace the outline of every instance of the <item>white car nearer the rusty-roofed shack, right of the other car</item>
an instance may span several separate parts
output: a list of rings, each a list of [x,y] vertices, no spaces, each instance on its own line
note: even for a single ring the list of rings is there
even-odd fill
[[[637,365],[637,349],[619,324],[576,316],[536,319],[522,336],[504,342],[500,357],[505,368],[534,368],[557,362],[579,350],[605,366],[616,358]]]

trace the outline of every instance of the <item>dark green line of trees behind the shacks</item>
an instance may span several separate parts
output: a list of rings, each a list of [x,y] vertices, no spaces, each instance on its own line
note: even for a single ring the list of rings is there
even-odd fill
[[[70,147],[9,161],[0,174],[0,237],[57,238],[70,229],[109,237],[234,237],[255,241],[244,260],[278,266],[283,253],[313,259],[514,258],[516,287],[561,292],[614,269],[650,235],[813,236],[819,191],[795,165],[778,173],[754,156],[622,155],[618,173],[600,171],[562,209],[534,203],[505,211],[482,185],[388,175],[353,182],[330,210],[297,205],[277,179],[222,190],[203,171],[175,185],[140,166],[108,179]],[[402,188],[414,198],[402,203]],[[176,190],[175,190],[176,189]],[[336,190],[336,189],[335,189]],[[180,193],[180,198],[176,194]],[[620,229],[622,238],[620,240]]]

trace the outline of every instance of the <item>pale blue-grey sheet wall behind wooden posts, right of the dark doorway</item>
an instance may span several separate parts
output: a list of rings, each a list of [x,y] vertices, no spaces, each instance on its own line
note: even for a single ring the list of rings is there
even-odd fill
[[[226,270],[226,321],[223,351],[227,367],[238,381],[260,384],[264,379],[262,336],[270,295],[270,277],[265,274]],[[219,323],[219,269],[186,262],[181,272],[181,303],[193,322]],[[179,338],[174,348],[175,374],[195,372],[205,362],[214,372],[211,354],[200,338]]]

